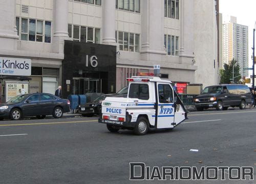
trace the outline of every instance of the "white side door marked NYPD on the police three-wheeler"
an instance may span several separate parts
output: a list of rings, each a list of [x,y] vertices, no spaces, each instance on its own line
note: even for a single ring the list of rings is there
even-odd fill
[[[157,128],[173,128],[175,112],[173,88],[167,83],[157,83],[157,91]]]

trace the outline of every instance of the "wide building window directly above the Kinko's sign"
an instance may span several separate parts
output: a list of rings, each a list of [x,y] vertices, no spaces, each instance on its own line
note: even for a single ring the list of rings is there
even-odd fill
[[[37,41],[51,43],[52,22],[36,19],[16,17],[16,27],[18,36],[22,41]]]

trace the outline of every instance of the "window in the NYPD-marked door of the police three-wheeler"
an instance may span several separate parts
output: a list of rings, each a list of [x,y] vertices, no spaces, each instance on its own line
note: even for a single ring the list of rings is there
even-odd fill
[[[158,84],[158,97],[160,103],[173,103],[173,89],[168,84]]]

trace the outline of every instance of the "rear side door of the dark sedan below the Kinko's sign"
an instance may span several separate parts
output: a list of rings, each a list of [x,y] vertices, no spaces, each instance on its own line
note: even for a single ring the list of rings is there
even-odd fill
[[[53,109],[56,106],[57,98],[52,95],[41,94],[40,95],[40,103],[42,106],[43,114],[50,115],[53,113]]]

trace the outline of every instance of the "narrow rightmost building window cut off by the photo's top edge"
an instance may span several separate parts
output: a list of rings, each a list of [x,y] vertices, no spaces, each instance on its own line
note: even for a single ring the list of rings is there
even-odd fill
[[[164,0],[164,16],[179,19],[179,0]]]

